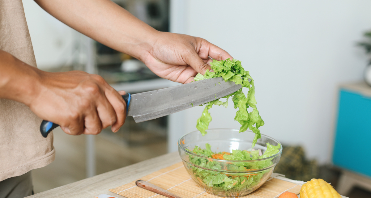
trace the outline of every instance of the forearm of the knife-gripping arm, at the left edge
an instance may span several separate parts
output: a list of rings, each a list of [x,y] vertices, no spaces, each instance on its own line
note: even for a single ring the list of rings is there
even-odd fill
[[[38,92],[40,70],[0,50],[0,98],[29,105]]]

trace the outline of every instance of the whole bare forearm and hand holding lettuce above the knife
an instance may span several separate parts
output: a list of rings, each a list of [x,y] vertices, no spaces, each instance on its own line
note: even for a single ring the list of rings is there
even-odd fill
[[[213,59],[232,59],[199,37],[159,32],[111,0],[35,0],[75,30],[141,60],[157,76],[188,83],[210,70]]]

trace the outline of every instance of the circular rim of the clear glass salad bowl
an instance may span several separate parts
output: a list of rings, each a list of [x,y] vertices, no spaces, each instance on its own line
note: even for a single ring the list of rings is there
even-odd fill
[[[230,130],[230,131],[240,131],[239,129],[208,129],[208,130]],[[208,157],[205,157],[205,156],[202,156],[202,155],[197,155],[197,154],[195,154],[195,153],[193,153],[193,152],[189,152],[189,151],[187,151],[185,148],[183,148],[183,146],[181,145],[181,139],[182,139],[184,136],[186,136],[186,135],[188,135],[188,134],[190,134],[190,133],[193,133],[193,132],[200,132],[200,131],[198,131],[198,130],[197,130],[197,131],[192,131],[192,132],[189,132],[189,133],[186,133],[186,134],[182,135],[182,136],[178,139],[178,146],[179,146],[181,149],[183,149],[184,152],[186,152],[186,153],[188,153],[188,154],[191,154],[191,155],[193,155],[193,156],[197,156],[197,157],[199,157],[199,158],[207,159],[207,160],[210,159],[210,158],[208,158]],[[246,130],[246,131],[244,131],[243,133],[246,133],[246,132],[254,133],[254,132],[252,132],[252,131],[250,131],[250,130]],[[201,132],[200,132],[200,133],[201,133]],[[254,134],[255,134],[255,133],[254,133]],[[281,144],[279,141],[277,141],[277,140],[274,139],[274,138],[271,138],[270,136],[267,136],[267,135],[264,135],[264,134],[261,134],[261,133],[260,133],[260,135],[261,135],[261,136],[265,136],[265,137],[267,137],[267,138],[270,138],[270,139],[272,139],[272,140],[278,142],[278,143],[280,144],[280,151],[279,151],[278,153],[276,153],[275,155],[272,155],[272,156],[267,157],[267,158],[262,158],[262,159],[253,159],[253,160],[225,160],[225,159],[213,159],[213,161],[217,161],[217,162],[257,162],[257,161],[263,161],[263,160],[270,159],[270,158],[275,158],[276,156],[278,156],[278,155],[280,155],[280,154],[282,153],[282,144]]]

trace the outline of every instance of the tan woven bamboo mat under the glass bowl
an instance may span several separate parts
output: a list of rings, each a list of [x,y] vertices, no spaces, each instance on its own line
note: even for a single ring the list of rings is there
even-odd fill
[[[190,178],[182,162],[163,168],[140,179],[166,189],[182,198],[220,198],[205,192],[203,188],[199,187]],[[135,181],[114,189],[109,189],[109,191],[127,198],[166,198],[162,195],[137,187]],[[300,188],[301,185],[276,178],[269,178],[260,188],[245,195],[243,198],[273,198],[278,197],[285,191],[299,194]]]

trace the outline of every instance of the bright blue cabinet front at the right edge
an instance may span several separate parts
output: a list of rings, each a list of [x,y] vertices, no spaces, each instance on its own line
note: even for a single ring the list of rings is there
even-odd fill
[[[363,89],[370,89],[363,86]],[[341,88],[332,162],[350,171],[371,176],[371,96]]]

